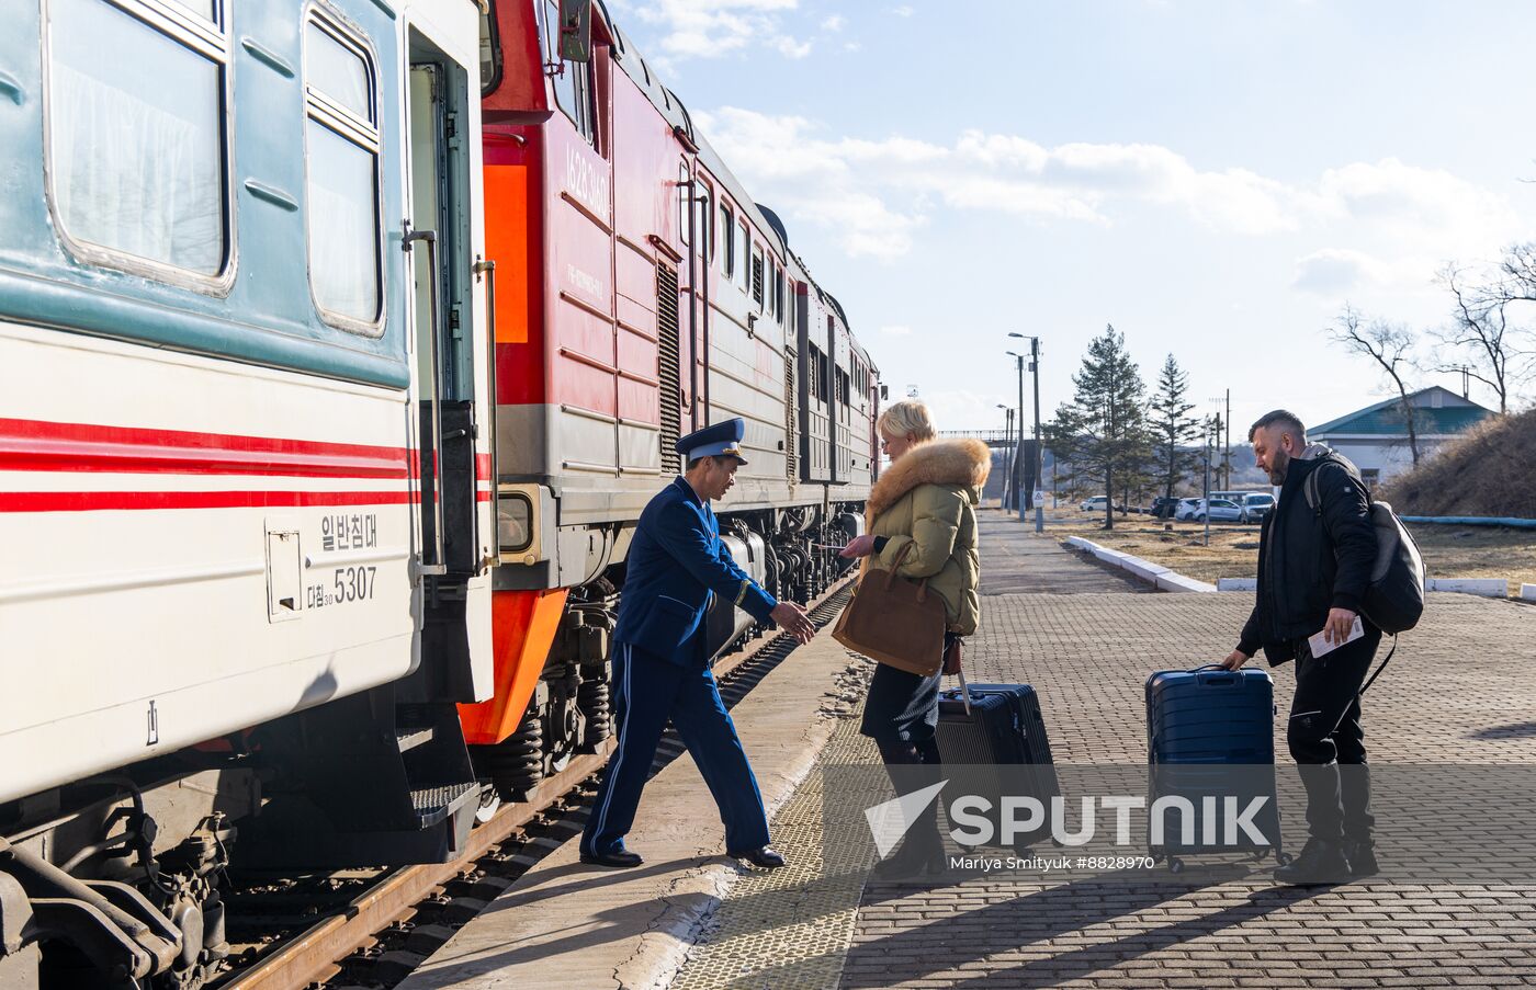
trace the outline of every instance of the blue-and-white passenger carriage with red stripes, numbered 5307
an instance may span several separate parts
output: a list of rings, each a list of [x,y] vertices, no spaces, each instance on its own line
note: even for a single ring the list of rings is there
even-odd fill
[[[195,985],[229,850],[465,835],[478,40],[468,0],[6,5],[0,982]]]

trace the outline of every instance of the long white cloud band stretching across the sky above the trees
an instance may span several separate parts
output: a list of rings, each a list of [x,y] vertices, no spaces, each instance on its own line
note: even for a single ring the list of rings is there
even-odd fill
[[[754,193],[788,219],[826,229],[851,255],[905,255],[938,204],[1101,226],[1112,226],[1127,206],[1150,204],[1220,233],[1313,230],[1324,244],[1373,241],[1298,259],[1295,285],[1327,293],[1361,279],[1422,281],[1435,258],[1487,252],[1519,233],[1504,198],[1390,158],[1292,184],[1249,169],[1201,170],[1160,144],[1048,147],[983,130],[962,132],[948,144],[903,135],[836,138],[803,117],[737,107],[700,117],[710,141]]]

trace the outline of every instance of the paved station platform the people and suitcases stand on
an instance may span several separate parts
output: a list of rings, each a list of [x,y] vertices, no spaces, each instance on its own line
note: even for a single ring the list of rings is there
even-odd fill
[[[1146,675],[1226,655],[1250,608],[1243,594],[1146,594],[1001,513],[983,514],[982,549],[968,669],[1037,688],[1058,763],[1143,763]],[[1366,698],[1373,763],[1536,764],[1533,635],[1531,606],[1432,596]],[[682,758],[642,804],[636,847],[657,853],[654,869],[587,870],[562,849],[406,985],[1536,985],[1536,883],[1287,889],[1235,870],[1200,887],[991,875],[929,889],[823,863],[836,843],[820,769],[879,761],[857,734],[868,669],[823,634],[737,709],[790,867],[711,860],[719,826]],[[1273,674],[1283,738],[1293,681]],[[754,721],[766,705],[774,718]]]

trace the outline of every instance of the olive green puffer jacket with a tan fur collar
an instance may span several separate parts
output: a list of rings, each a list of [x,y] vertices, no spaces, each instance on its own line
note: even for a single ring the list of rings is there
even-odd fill
[[[869,533],[886,537],[877,566],[889,569],[911,543],[897,573],[926,577],[960,635],[975,632],[980,619],[975,507],[991,468],[982,441],[932,441],[897,457],[869,491]]]

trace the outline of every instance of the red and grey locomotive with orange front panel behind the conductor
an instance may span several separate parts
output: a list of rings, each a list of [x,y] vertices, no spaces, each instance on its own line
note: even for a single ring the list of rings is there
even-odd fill
[[[641,510],[684,468],[682,433],[746,421],[722,534],[802,602],[842,571],[816,543],[862,531],[879,457],[879,371],[779,216],[601,3],[590,58],[562,58],[561,8],[495,0],[482,48],[499,688],[461,711],[505,797],[604,737],[614,589]],[[750,622],[719,603],[711,649]]]

